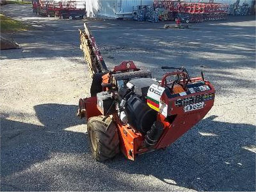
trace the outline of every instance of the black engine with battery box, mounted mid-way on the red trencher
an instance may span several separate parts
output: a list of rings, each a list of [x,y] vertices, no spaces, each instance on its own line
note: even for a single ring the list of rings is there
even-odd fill
[[[113,114],[117,108],[120,122],[144,134],[144,146],[149,148],[156,144],[164,129],[164,125],[156,120],[158,112],[146,102],[149,87],[156,83],[151,78],[119,80],[116,83],[118,96],[113,92],[97,93],[97,107],[102,114]]]

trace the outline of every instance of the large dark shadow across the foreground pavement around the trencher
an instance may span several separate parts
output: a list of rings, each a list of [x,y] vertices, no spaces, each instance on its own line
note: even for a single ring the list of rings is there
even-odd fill
[[[1,190],[70,190],[62,185],[65,182],[75,185],[73,190],[161,191],[170,184],[204,191],[255,191],[255,153],[250,151],[255,144],[253,125],[218,122],[216,116],[210,116],[164,151],[140,155],[134,162],[120,154],[102,164],[91,158],[87,134],[66,129],[84,123],[74,116],[76,106],[42,104],[34,109],[42,125],[8,120],[8,114],[2,114]],[[72,166],[60,161],[53,168],[42,167],[49,172],[46,174],[40,169],[29,171],[51,161],[52,153],[66,154],[67,161],[72,155],[78,158],[72,160]],[[76,162],[83,166],[74,166]],[[56,172],[58,166],[60,172]],[[52,187],[62,172],[66,180],[58,179]],[[152,187],[133,177],[122,180],[120,175],[127,174],[153,176],[163,186]]]

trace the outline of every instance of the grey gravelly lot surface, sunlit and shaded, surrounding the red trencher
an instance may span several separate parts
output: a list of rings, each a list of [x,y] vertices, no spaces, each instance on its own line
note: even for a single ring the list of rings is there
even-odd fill
[[[160,66],[185,66],[216,88],[212,110],[166,150],[100,163],[75,116],[91,83],[79,50],[84,21],[34,16],[29,6],[1,12],[32,25],[10,34],[22,49],[1,51],[1,191],[256,190],[255,17],[189,30],[89,21],[110,68],[134,60],[160,78]]]

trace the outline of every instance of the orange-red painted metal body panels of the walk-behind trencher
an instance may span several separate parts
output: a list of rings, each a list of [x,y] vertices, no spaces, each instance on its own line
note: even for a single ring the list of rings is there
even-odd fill
[[[109,83],[111,73],[106,73],[102,76],[103,83]],[[166,148],[175,142],[180,136],[192,128],[209,112],[214,104],[215,89],[210,82],[202,79],[201,77],[191,78],[190,82],[202,82],[210,87],[210,90],[201,91],[197,93],[190,93],[183,96],[179,94],[184,92],[184,88],[180,85],[174,86],[173,94],[164,92],[161,96],[162,102],[168,105],[168,116],[164,116],[161,113],[157,114],[157,120],[164,124],[164,131],[159,138],[157,144],[153,148],[143,148],[144,135],[136,131],[136,128],[129,124],[123,125],[118,118],[117,112],[112,114],[112,118],[116,123],[116,127],[119,133],[120,149],[122,153],[130,160],[134,160],[137,154],[142,154],[148,151]],[[103,88],[106,91],[108,88]],[[178,95],[178,96],[177,96]],[[192,101],[200,98],[203,100],[204,107],[192,111],[184,111],[184,105],[189,104],[187,101]],[[210,98],[210,99],[208,99]],[[89,119],[92,116],[98,116],[102,113],[97,108],[97,97],[93,96],[87,98],[85,101],[86,117]],[[182,104],[183,102],[183,104]],[[186,103],[187,102],[187,103]],[[196,101],[195,101],[196,102]],[[191,102],[190,102],[191,103]]]

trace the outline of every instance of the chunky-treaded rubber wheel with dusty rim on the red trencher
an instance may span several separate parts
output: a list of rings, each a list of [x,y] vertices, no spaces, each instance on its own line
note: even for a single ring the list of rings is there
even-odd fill
[[[113,158],[120,152],[116,125],[110,117],[91,117],[87,124],[88,142],[98,161]]]

